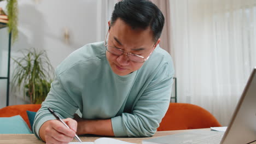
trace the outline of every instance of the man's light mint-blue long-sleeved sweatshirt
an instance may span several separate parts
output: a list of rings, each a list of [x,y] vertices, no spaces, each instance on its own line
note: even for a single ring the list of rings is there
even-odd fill
[[[111,118],[114,135],[154,135],[171,97],[173,63],[159,46],[148,61],[133,73],[115,74],[106,58],[104,42],[83,46],[57,68],[50,92],[34,119],[39,137],[41,125],[55,119],[47,107],[62,118],[73,118],[79,109],[84,119]]]

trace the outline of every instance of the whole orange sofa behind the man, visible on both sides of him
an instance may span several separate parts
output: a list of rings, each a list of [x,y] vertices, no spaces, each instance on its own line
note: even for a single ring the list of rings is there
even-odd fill
[[[11,105],[0,109],[0,117],[20,115],[31,128],[26,111],[37,112],[40,104]],[[221,127],[217,119],[200,106],[184,103],[170,103],[158,131]]]

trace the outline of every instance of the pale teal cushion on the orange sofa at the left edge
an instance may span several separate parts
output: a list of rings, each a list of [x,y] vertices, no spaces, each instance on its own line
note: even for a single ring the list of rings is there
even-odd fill
[[[0,134],[32,134],[32,131],[20,115],[0,117],[0,125]]]

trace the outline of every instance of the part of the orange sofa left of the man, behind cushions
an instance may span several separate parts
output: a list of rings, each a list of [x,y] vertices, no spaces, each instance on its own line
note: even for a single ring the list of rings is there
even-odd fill
[[[24,121],[30,126],[30,121],[28,120],[27,111],[37,112],[40,109],[40,104],[25,104],[25,105],[11,105],[0,109],[0,117],[12,117],[20,115]]]

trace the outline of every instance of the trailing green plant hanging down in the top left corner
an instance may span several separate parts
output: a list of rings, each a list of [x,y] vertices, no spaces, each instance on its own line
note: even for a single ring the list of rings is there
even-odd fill
[[[4,0],[0,0],[4,1]],[[7,0],[7,15],[8,15],[8,31],[11,32],[13,43],[18,38],[18,2],[17,0]]]

